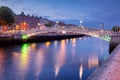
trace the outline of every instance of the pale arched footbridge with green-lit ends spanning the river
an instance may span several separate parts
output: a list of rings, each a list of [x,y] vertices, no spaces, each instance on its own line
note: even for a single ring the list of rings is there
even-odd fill
[[[62,36],[62,35],[73,35],[73,34],[85,34],[92,37],[100,38],[106,41],[110,41],[113,33],[109,30],[97,30],[86,27],[77,26],[64,26],[62,28],[49,28],[49,29],[36,29],[14,33],[22,35],[22,38],[27,39],[32,36]],[[18,37],[16,35],[16,37]]]

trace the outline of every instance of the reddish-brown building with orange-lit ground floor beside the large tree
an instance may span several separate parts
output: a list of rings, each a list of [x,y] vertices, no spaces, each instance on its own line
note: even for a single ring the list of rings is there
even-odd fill
[[[15,15],[16,29],[31,29],[36,28],[40,23],[40,18],[30,15],[25,15],[21,12],[19,15]]]

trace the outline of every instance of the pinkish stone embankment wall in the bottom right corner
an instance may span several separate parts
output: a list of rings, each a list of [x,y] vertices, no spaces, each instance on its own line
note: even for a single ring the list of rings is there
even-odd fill
[[[120,44],[87,80],[120,80]]]

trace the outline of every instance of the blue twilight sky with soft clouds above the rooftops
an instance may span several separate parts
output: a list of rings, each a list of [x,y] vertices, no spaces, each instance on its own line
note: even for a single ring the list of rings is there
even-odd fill
[[[0,6],[8,6],[16,14],[42,16],[51,20],[64,21],[106,29],[120,25],[120,0],[0,0]]]

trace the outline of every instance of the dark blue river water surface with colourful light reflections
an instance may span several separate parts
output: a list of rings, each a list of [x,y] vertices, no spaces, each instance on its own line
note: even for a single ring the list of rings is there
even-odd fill
[[[0,80],[86,80],[108,48],[92,37],[0,48]]]

